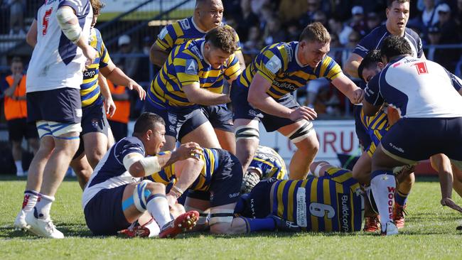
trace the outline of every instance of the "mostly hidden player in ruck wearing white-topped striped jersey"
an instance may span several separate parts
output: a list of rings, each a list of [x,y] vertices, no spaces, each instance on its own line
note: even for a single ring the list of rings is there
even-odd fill
[[[242,177],[241,193],[249,193],[260,180],[267,178],[289,178],[286,163],[273,148],[258,146],[247,172]]]

